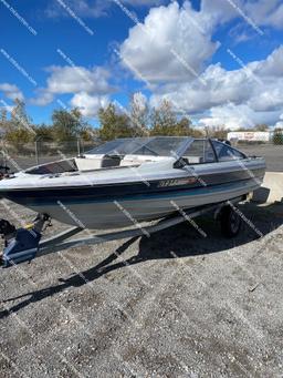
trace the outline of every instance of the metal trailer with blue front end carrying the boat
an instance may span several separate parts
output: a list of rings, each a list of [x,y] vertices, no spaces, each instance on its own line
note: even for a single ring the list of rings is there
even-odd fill
[[[136,228],[97,234],[91,237],[74,238],[70,241],[67,239],[85,229],[82,227],[71,227],[55,236],[42,239],[44,229],[51,225],[50,216],[46,214],[39,214],[33,224],[18,229],[8,221],[0,219],[0,235],[4,239],[4,249],[0,256],[0,265],[7,268],[72,247],[95,245],[104,242],[143,236],[145,234],[150,235],[186,221],[190,222],[195,217],[207,213],[212,213],[214,219],[220,219],[221,231],[224,236],[233,237],[239,234],[241,228],[241,216],[235,211],[235,205],[244,200],[245,196],[241,196],[213,205],[203,205],[189,211],[180,211],[179,213],[177,212],[177,215],[175,213],[174,216],[171,215],[161,221],[159,219],[157,224],[150,226],[142,227],[142,225],[138,225]]]

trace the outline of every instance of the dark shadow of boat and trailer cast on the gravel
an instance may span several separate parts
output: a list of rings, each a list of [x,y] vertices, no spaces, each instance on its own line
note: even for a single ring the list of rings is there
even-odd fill
[[[192,225],[184,223],[169,229],[155,233],[149,238],[143,236],[138,244],[137,255],[113,264],[117,257],[120,256],[139,237],[130,238],[102,263],[90,269],[80,272],[66,279],[60,278],[60,283],[57,285],[4,300],[4,303],[9,303],[22,299],[22,302],[12,306],[10,309],[0,311],[0,319],[18,313],[20,309],[29,306],[30,304],[54,296],[70,287],[81,287],[109,272],[125,266],[139,264],[149,259],[182,258],[187,256],[206,255],[228,251],[265,236],[283,224],[282,205],[269,205],[261,207],[254,204],[247,204],[239,206],[239,208],[244,214],[245,221],[243,222],[244,227],[235,238],[223,238],[220,227],[213,218],[200,217],[196,219],[196,223],[200,229],[205,231],[207,237],[203,237],[203,234],[201,235],[192,227]]]

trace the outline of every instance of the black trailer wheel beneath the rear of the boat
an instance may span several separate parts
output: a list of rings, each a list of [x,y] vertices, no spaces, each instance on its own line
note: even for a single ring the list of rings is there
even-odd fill
[[[221,232],[226,237],[237,236],[242,226],[242,218],[231,206],[224,206],[220,213]]]

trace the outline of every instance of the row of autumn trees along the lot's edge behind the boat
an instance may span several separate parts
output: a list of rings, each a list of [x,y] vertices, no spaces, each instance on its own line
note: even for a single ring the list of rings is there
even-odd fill
[[[129,109],[111,103],[98,111],[98,127],[91,126],[78,109],[54,110],[51,124],[34,124],[27,114],[23,101],[15,100],[11,115],[8,118],[6,108],[0,113],[2,139],[15,147],[35,141],[72,142],[81,139],[85,142],[94,140],[108,141],[115,137],[134,136],[210,136],[227,139],[229,130],[223,126],[209,127],[200,131],[192,126],[187,115],[178,115],[172,104],[164,100],[158,108],[149,109],[133,96]],[[254,130],[265,131],[266,125],[258,125]],[[250,131],[250,130],[249,130]],[[279,131],[274,143],[283,143],[283,134]]]

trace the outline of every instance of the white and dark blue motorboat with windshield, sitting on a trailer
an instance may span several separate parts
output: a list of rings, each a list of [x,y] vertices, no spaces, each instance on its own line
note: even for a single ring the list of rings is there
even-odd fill
[[[218,140],[126,137],[6,175],[0,197],[72,226],[113,229],[245,196],[264,173],[264,159]]]

